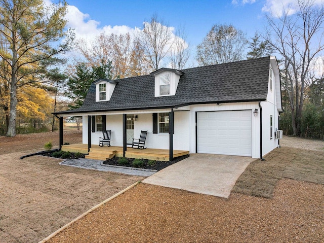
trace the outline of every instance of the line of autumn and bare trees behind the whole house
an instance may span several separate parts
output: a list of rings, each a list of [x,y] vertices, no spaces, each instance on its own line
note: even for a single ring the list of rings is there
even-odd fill
[[[323,5],[298,0],[294,8],[293,13],[267,15],[266,29],[251,38],[233,25],[213,25],[194,59],[211,65],[276,55],[285,110],[280,128],[285,134],[323,139]],[[42,0],[0,0],[0,134],[46,130],[49,124],[54,130],[51,113],[80,107],[98,78],[193,66],[185,29],[174,30],[156,15],[132,33],[101,33],[90,41],[75,39],[73,30],[66,29],[66,10],[65,2],[46,6]],[[62,96],[69,99],[58,99]]]

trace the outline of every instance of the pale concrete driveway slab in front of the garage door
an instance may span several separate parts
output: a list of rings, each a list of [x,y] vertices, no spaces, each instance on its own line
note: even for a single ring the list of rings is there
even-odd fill
[[[254,160],[241,156],[191,154],[142,182],[228,198],[238,177]]]

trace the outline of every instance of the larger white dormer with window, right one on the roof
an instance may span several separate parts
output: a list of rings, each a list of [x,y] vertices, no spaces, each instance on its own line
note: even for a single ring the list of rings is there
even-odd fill
[[[176,94],[180,76],[183,73],[179,70],[163,67],[150,75],[154,76],[154,96],[160,97]]]

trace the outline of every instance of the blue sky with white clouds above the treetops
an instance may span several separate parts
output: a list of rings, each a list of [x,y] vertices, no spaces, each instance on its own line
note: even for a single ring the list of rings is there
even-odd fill
[[[56,0],[45,0],[56,2]],[[322,0],[314,0],[320,2]],[[153,15],[174,29],[184,28],[186,42],[194,59],[196,46],[214,24],[232,24],[246,33],[248,40],[266,27],[270,11],[281,15],[288,8],[294,12],[297,0],[66,0],[67,27],[76,38],[94,40],[101,32],[125,34],[143,28]]]

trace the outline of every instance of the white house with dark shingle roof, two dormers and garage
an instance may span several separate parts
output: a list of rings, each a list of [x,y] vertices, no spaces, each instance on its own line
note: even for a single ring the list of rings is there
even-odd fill
[[[83,117],[83,143],[123,147],[147,130],[147,148],[262,158],[279,144],[280,74],[274,56],[174,70],[91,84],[79,109],[56,112]],[[62,120],[62,119],[61,119]],[[63,143],[63,126],[60,146]]]

